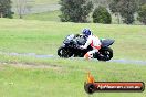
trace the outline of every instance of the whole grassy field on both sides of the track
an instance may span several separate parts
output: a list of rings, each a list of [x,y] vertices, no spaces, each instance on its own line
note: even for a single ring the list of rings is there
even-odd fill
[[[88,71],[100,82],[146,82],[146,65],[8,54],[15,52],[56,55],[56,50],[65,35],[80,33],[83,28],[90,28],[100,37],[115,40],[115,44],[112,45],[113,58],[145,61],[145,25],[17,19],[0,19],[0,95],[2,97],[145,97],[146,91],[100,93],[88,96],[83,85]]]

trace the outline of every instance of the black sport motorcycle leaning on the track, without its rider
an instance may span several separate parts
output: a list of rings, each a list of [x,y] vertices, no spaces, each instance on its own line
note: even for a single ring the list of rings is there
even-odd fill
[[[84,57],[84,55],[92,50],[88,45],[87,48],[82,50],[80,45],[84,45],[86,42],[85,35],[69,35],[63,41],[63,45],[58,48],[58,55],[60,57]],[[101,39],[101,48],[98,53],[93,54],[93,58],[98,61],[109,61],[113,57],[113,50],[109,47],[115,41],[111,39]]]

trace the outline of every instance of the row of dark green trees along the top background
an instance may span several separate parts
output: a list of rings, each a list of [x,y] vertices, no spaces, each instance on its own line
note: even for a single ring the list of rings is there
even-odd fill
[[[17,0],[18,13],[22,18],[25,0]],[[11,0],[0,0],[0,17],[12,18]],[[112,14],[132,24],[136,20],[146,24],[146,0],[60,0],[62,22],[112,23]],[[136,15],[136,17],[135,17]]]

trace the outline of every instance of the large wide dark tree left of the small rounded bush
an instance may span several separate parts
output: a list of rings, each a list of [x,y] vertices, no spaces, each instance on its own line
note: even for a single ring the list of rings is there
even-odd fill
[[[62,22],[87,22],[87,17],[93,9],[88,0],[61,0],[60,19]]]

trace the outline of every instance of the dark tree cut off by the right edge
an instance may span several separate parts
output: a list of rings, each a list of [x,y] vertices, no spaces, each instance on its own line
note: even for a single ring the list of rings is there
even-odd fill
[[[138,20],[146,24],[146,4],[142,6],[138,11]]]

